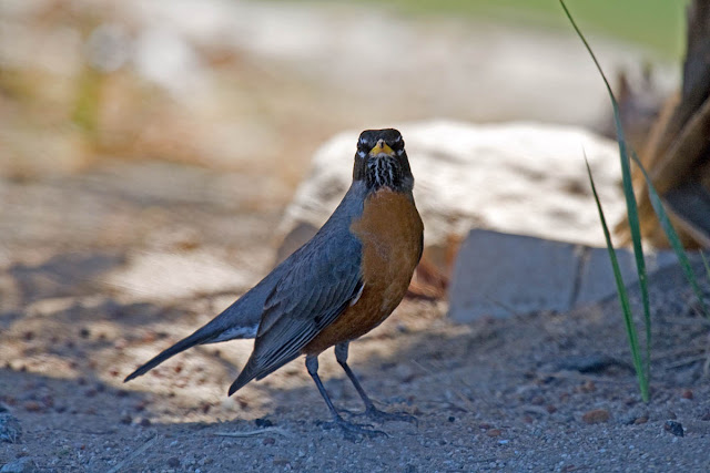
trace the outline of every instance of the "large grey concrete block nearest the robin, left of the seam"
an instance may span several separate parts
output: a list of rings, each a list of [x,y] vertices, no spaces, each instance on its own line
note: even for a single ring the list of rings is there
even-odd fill
[[[474,229],[459,249],[449,317],[469,322],[536,310],[568,310],[581,246]]]

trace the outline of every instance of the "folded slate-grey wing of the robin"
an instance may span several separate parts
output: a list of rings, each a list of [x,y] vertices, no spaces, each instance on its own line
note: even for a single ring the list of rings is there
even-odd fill
[[[254,351],[230,395],[298,357],[356,297],[362,245],[349,230],[344,233],[321,233],[290,258],[292,268],[266,298]]]

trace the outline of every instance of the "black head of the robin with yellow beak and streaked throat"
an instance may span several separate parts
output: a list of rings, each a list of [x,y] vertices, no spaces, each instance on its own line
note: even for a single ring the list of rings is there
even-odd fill
[[[397,130],[365,130],[361,133],[353,179],[364,182],[371,191],[381,187],[398,192],[412,191],[414,177],[404,151],[404,140]]]

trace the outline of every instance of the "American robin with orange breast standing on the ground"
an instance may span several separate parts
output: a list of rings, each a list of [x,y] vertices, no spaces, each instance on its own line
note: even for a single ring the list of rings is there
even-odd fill
[[[345,421],[318,377],[318,354],[335,358],[376,420],[414,420],[379,411],[347,364],[351,340],[382,323],[404,298],[422,258],[424,225],[414,204],[414,177],[402,134],[364,131],[357,141],[353,184],[318,233],[212,321],[125,378],[144,374],[201,343],[255,338],[232,395],[301,354],[308,374],[346,432],[382,434]]]

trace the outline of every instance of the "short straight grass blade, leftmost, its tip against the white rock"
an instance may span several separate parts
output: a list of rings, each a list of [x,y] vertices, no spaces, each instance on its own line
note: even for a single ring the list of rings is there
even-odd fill
[[[636,377],[638,379],[639,389],[641,391],[641,399],[643,402],[649,400],[649,378],[648,371],[643,368],[643,361],[639,351],[638,337],[636,335],[636,326],[633,325],[633,315],[631,313],[631,305],[629,304],[629,295],[621,277],[621,269],[619,268],[619,260],[617,259],[617,253],[611,244],[611,235],[609,234],[609,227],[607,226],[607,219],[601,208],[601,202],[597,194],[597,187],[595,186],[595,179],[591,175],[591,168],[589,162],[585,155],[585,163],[587,164],[587,175],[589,176],[589,184],[591,185],[591,192],[597,203],[597,210],[599,212],[599,220],[601,220],[601,228],[604,229],[604,237],[607,241],[607,250],[609,251],[609,260],[611,261],[611,268],[613,269],[613,279],[617,284],[617,295],[619,296],[619,302],[621,304],[621,310],[623,312],[623,322],[626,325],[626,332],[629,338],[629,347],[631,348],[631,358],[633,360],[633,368],[636,369]]]

